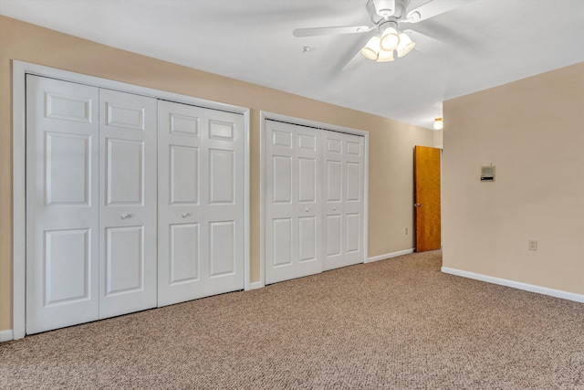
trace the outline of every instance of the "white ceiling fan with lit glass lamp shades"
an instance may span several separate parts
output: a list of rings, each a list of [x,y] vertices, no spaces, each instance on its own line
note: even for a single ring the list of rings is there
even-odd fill
[[[360,49],[360,54],[376,62],[388,62],[397,57],[403,57],[421,43],[425,47],[416,47],[422,53],[434,54],[437,47],[443,47],[443,42],[428,37],[412,28],[402,29],[402,24],[416,24],[433,16],[443,14],[457,6],[473,0],[428,0],[422,5],[410,8],[412,0],[368,0],[367,12],[371,17],[372,26],[335,26],[297,28],[293,31],[295,37],[316,37],[336,34],[362,34],[377,29],[367,44]],[[418,4],[420,2],[417,2]],[[413,38],[413,39],[412,39]],[[359,53],[355,58],[360,57]],[[343,70],[348,69],[354,58]]]

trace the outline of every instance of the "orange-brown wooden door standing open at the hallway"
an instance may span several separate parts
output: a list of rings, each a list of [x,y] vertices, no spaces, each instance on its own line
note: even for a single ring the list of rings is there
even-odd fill
[[[416,252],[442,247],[440,216],[441,150],[414,149]]]

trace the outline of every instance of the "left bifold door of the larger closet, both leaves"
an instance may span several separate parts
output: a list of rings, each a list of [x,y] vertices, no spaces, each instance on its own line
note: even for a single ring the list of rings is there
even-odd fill
[[[155,106],[26,77],[27,333],[156,305]]]

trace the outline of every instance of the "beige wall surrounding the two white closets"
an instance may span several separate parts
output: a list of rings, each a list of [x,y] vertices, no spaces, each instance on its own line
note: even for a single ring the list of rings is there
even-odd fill
[[[0,331],[12,328],[12,68],[19,59],[251,109],[251,279],[259,279],[259,111],[370,132],[369,256],[413,248],[412,147],[433,133],[0,16]]]

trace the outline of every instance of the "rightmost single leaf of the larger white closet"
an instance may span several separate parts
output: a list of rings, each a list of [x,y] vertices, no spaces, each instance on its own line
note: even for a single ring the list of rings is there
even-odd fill
[[[244,289],[244,117],[204,109],[204,226],[208,257],[195,298]]]

